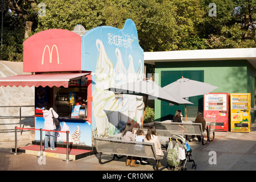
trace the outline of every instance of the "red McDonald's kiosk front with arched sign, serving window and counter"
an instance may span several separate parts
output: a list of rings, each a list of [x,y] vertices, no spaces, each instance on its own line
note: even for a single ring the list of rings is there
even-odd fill
[[[92,75],[81,69],[81,37],[67,30],[46,30],[32,35],[23,45],[23,71],[37,77],[31,83],[35,86],[35,128],[44,128],[42,110],[50,103],[59,114],[57,130],[70,131],[69,143],[92,146],[92,101],[86,102],[92,96]],[[79,104],[79,98],[84,103]],[[86,116],[80,114],[84,104]],[[38,131],[35,140],[40,140]],[[67,136],[58,133],[55,140],[65,143]]]

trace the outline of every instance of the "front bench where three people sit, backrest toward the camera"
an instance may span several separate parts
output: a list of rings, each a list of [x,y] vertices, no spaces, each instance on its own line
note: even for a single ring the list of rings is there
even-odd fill
[[[155,168],[156,171],[161,171],[167,166],[164,166],[159,169],[158,164],[163,156],[156,155],[155,152],[155,144],[149,142],[132,142],[125,141],[120,139],[113,138],[99,138],[94,137],[93,142],[95,144],[96,150],[99,154],[98,162],[100,164],[108,163],[115,159],[115,157],[120,158],[121,156],[136,156],[139,158],[147,158],[155,160]],[[106,160],[102,162],[102,154],[113,155],[112,159]]]

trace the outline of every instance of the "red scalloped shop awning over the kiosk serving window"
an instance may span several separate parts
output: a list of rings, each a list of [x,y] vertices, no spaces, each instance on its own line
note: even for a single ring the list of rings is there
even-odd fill
[[[68,88],[68,82],[90,73],[52,73],[39,75],[16,75],[0,78],[0,86],[49,86]]]

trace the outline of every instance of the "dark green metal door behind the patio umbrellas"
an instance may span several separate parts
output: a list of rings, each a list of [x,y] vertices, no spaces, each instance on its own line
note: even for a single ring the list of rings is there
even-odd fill
[[[204,71],[162,71],[161,72],[161,86],[166,86],[179,78],[189,78],[190,80],[196,80],[204,82]],[[195,118],[198,110],[203,110],[203,95],[189,97],[189,102],[193,105],[186,105],[187,117]],[[182,111],[183,120],[185,120],[185,105],[171,105],[168,102],[161,101],[161,118],[160,121],[172,119],[176,110]]]

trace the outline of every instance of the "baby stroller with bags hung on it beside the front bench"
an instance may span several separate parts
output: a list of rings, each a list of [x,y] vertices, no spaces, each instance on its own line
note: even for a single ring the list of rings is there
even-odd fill
[[[193,162],[192,168],[196,169],[191,153],[191,147],[181,135],[172,136],[167,148],[168,169],[174,171],[175,168],[178,168],[180,171],[187,171],[185,167],[187,162]]]

